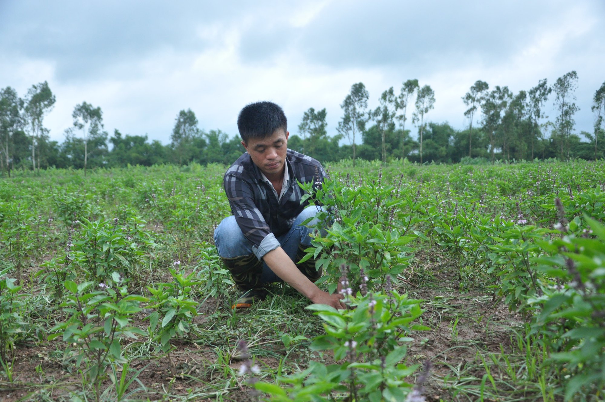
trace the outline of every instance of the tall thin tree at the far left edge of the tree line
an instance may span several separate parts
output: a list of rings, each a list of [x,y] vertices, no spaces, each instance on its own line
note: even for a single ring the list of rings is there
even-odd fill
[[[6,171],[10,177],[10,143],[13,139],[15,131],[21,130],[23,127],[23,119],[21,111],[24,103],[17,92],[6,87],[0,91],[0,162],[2,162],[1,154],[4,153],[4,162],[6,162]],[[3,165],[4,163],[0,163]],[[13,163],[14,166],[14,163]]]

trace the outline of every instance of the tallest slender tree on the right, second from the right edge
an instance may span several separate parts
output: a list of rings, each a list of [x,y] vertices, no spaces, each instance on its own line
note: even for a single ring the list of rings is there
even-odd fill
[[[574,130],[574,114],[580,110],[575,104],[574,91],[578,87],[578,74],[575,71],[569,71],[557,78],[552,90],[555,92],[555,107],[558,110],[557,131],[561,136],[560,149],[561,159],[564,157],[564,147],[567,148],[567,159],[569,159],[569,137]]]

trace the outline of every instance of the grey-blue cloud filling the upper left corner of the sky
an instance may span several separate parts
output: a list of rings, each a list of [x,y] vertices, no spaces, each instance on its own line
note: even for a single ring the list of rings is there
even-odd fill
[[[160,51],[198,53],[212,45],[198,38],[198,26],[238,15],[236,7],[214,2],[19,1],[1,7],[0,53],[51,60],[59,81],[114,70],[136,74],[129,63]]]

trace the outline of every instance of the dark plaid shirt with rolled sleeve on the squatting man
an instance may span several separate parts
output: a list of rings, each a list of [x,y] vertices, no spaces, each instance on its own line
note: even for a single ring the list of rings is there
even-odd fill
[[[313,182],[313,186],[317,186],[326,176],[321,163],[312,157],[287,150],[286,160],[290,183],[280,200],[272,186],[264,182],[260,169],[248,153],[229,166],[223,178],[231,212],[259,260],[280,246],[276,237],[292,228],[292,223],[308,204],[301,204],[305,191],[296,180]]]

